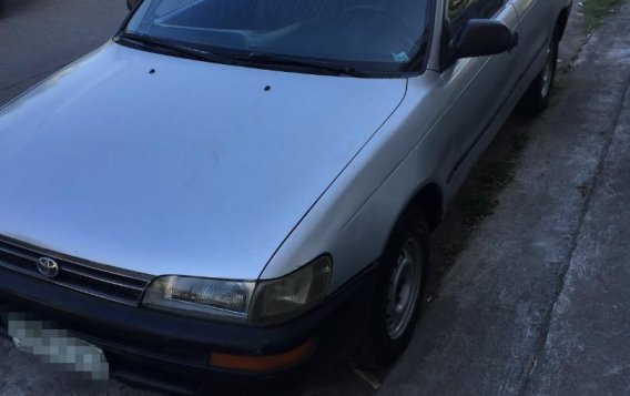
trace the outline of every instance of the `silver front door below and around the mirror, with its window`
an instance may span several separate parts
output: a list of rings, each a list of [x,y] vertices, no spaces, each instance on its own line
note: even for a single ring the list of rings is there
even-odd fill
[[[516,11],[506,0],[445,0],[443,54],[471,19],[495,19],[514,32],[518,27]],[[504,115],[504,103],[518,81],[518,50],[517,47],[509,53],[459,59],[443,65],[441,83],[449,106],[440,130],[453,131],[455,138],[454,163],[448,174],[450,191],[457,190],[478,152],[491,140],[488,134],[494,132],[492,122]]]

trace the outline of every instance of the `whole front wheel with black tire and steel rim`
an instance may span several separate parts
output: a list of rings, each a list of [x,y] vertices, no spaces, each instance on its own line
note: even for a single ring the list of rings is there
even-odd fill
[[[424,301],[428,262],[428,227],[423,213],[411,209],[396,225],[378,266],[369,328],[369,352],[377,362],[394,361],[409,344]],[[396,307],[403,307],[402,313]]]

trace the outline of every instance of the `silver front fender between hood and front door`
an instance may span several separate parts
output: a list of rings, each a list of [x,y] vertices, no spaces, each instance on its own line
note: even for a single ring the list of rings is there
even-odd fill
[[[438,73],[410,79],[400,106],[287,237],[262,278],[328,252],[334,291],[377,260],[419,183],[445,187],[455,153],[450,136],[436,126],[448,100]]]

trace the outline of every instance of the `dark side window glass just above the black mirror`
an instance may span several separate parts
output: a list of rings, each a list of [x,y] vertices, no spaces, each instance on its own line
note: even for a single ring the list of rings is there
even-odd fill
[[[456,39],[470,19],[486,19],[504,7],[506,0],[448,0],[446,20]]]

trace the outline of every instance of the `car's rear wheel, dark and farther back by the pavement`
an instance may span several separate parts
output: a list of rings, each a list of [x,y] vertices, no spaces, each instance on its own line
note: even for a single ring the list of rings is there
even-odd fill
[[[535,116],[542,113],[549,105],[549,98],[551,98],[551,89],[556,81],[556,69],[558,67],[559,37],[558,31],[556,31],[549,41],[547,61],[542,71],[534,80],[518,104],[518,111],[521,114]]]

